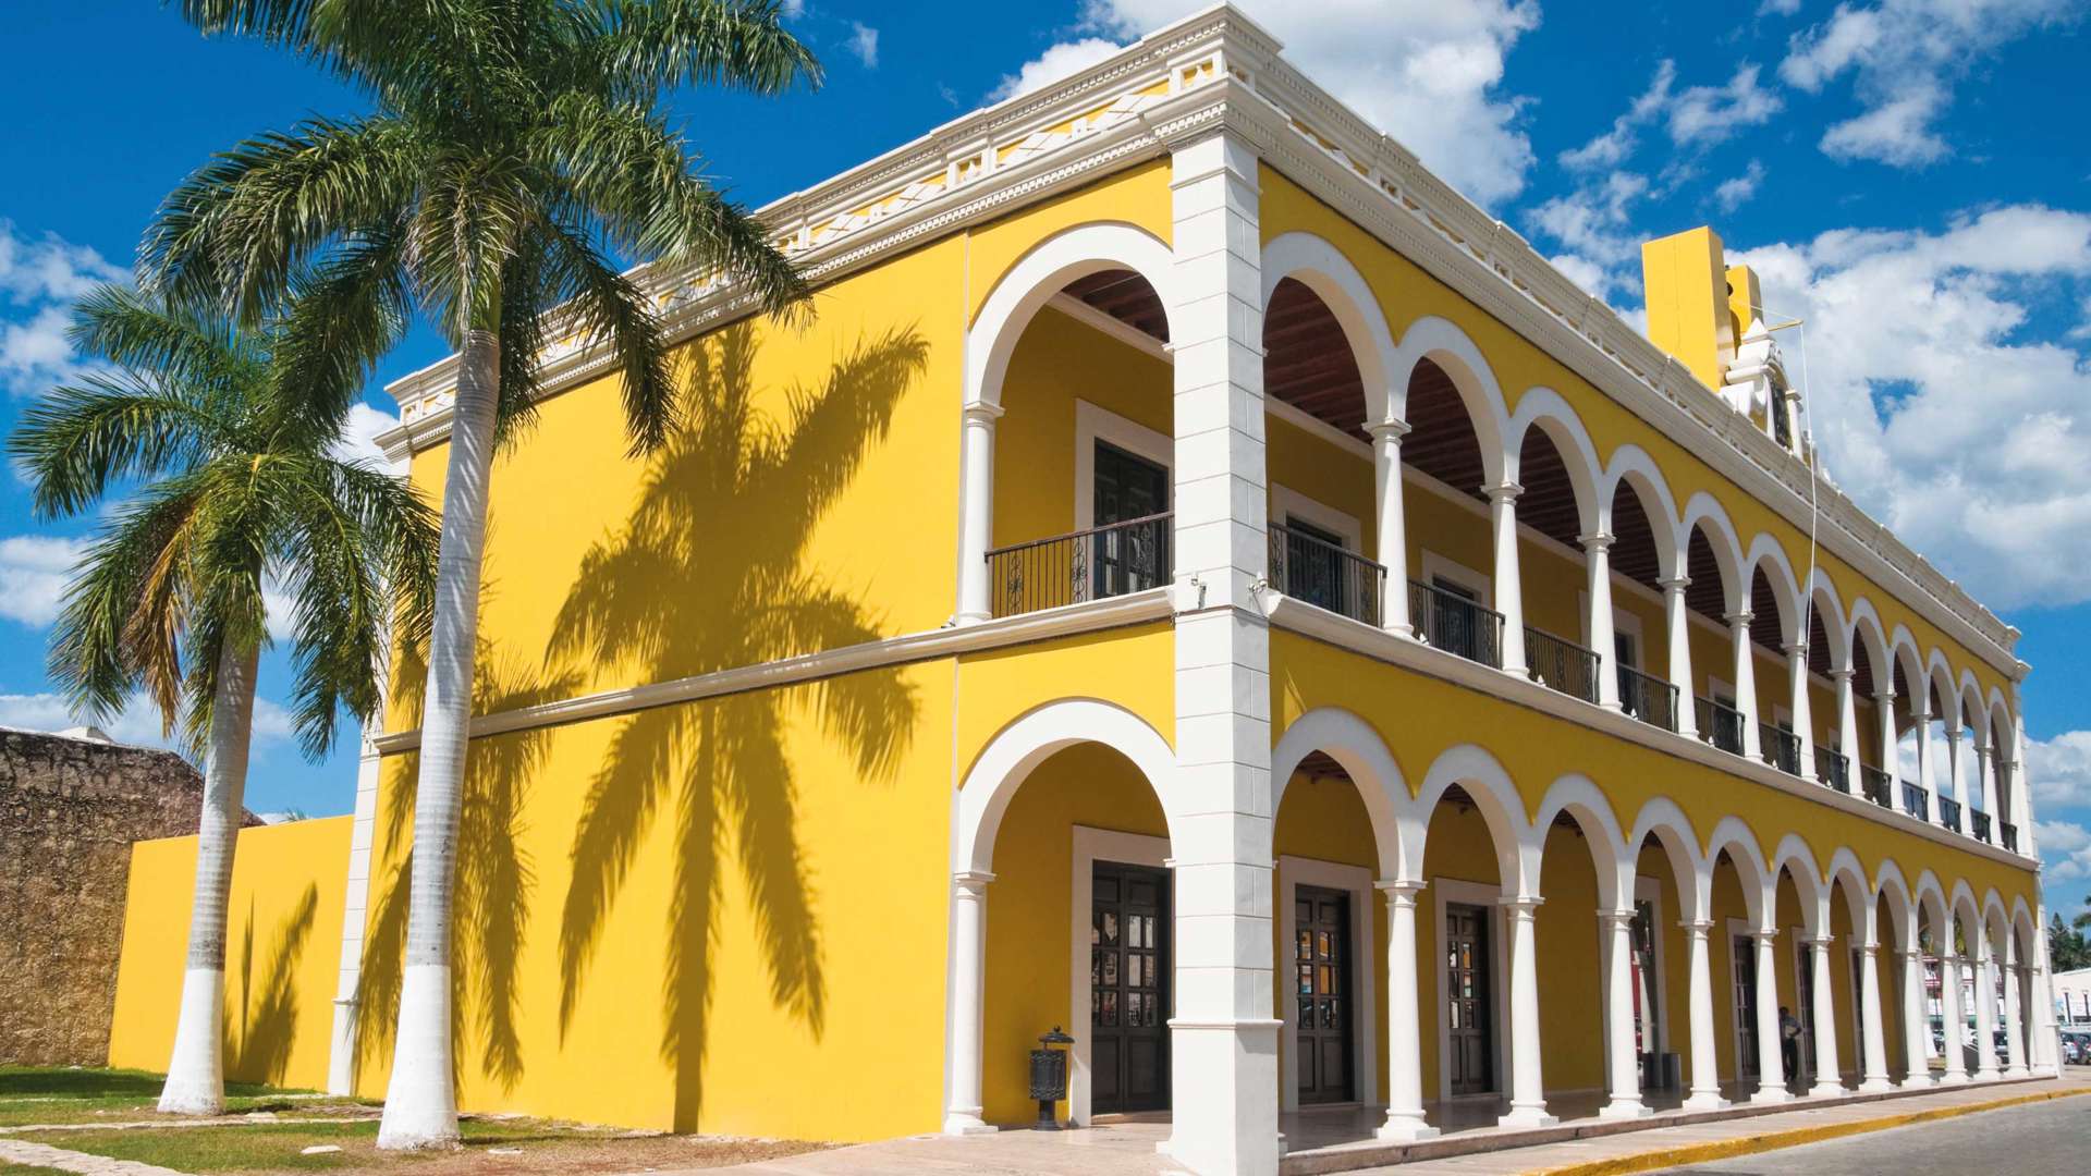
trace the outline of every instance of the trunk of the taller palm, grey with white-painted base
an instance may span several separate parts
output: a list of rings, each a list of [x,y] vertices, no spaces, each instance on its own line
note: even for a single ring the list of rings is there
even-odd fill
[[[420,781],[414,795],[414,877],[399,977],[399,1027],[378,1147],[422,1149],[458,1143],[452,1078],[450,900],[464,799],[464,755],[473,718],[473,661],[479,636],[479,561],[487,538],[487,479],[493,467],[493,408],[500,393],[500,337],[470,331],[458,356],[450,419],[450,471],[429,632],[429,691],[422,699]]]

